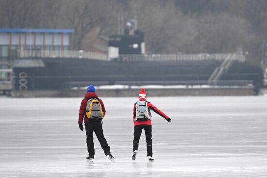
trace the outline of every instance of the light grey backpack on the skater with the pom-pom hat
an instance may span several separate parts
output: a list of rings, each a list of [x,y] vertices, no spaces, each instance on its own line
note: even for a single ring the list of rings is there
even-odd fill
[[[134,121],[146,121],[151,120],[150,113],[148,111],[147,101],[137,101],[135,110]]]

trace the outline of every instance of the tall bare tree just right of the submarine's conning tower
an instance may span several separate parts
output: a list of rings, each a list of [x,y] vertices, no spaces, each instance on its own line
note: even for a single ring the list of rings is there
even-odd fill
[[[190,18],[184,16],[172,1],[133,1],[133,11],[135,3],[138,27],[145,32],[146,48],[149,52],[186,52],[186,44],[190,43],[195,33]]]

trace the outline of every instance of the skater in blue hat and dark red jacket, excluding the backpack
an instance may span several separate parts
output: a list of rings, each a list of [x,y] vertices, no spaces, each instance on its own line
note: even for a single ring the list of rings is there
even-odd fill
[[[104,137],[103,129],[102,129],[102,118],[88,118],[86,113],[86,106],[87,102],[92,98],[95,98],[99,101],[100,105],[98,105],[102,110],[102,117],[105,115],[106,110],[103,101],[98,97],[96,94],[96,89],[93,85],[90,85],[87,87],[86,94],[82,100],[81,106],[80,106],[80,112],[79,112],[79,128],[83,131],[83,120],[84,120],[84,126],[86,130],[86,144],[87,144],[87,150],[88,150],[88,157],[86,158],[88,162],[93,162],[94,156],[95,156],[95,149],[94,149],[94,142],[93,142],[93,132],[95,132],[100,145],[102,149],[104,150],[104,153],[106,157],[114,162],[114,157],[110,153],[110,146],[108,146],[108,143]]]

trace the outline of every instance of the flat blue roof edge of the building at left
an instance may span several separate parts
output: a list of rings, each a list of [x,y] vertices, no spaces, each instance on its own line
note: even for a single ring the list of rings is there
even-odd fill
[[[0,29],[4,33],[74,33],[73,29]]]

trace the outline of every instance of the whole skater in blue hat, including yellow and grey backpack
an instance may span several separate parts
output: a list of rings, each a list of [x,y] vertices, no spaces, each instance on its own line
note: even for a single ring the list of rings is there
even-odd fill
[[[79,128],[83,131],[83,120],[86,131],[86,144],[88,150],[88,162],[93,162],[95,156],[93,132],[95,132],[106,157],[114,162],[114,157],[110,153],[110,146],[104,137],[102,129],[102,119],[106,113],[104,103],[96,94],[93,85],[87,87],[86,94],[82,100],[79,112]]]

